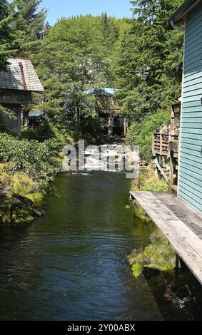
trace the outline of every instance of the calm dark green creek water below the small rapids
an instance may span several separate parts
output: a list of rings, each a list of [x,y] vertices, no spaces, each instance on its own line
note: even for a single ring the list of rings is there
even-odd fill
[[[126,209],[130,180],[64,174],[54,187],[45,217],[26,230],[1,228],[0,319],[186,319],[159,277],[131,274],[126,258],[148,245],[153,226]]]

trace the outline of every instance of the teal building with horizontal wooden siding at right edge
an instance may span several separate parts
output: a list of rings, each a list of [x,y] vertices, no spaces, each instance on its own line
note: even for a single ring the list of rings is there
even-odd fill
[[[202,213],[202,1],[188,0],[171,16],[184,21],[178,197]]]

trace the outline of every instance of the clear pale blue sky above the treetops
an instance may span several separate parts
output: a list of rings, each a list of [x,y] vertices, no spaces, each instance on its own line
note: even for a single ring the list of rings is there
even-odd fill
[[[44,0],[42,6],[49,9],[47,20],[51,25],[61,16],[99,15],[103,11],[117,18],[131,17],[130,0]]]

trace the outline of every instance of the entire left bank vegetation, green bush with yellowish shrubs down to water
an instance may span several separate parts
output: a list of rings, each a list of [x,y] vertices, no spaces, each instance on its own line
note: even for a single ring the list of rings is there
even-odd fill
[[[0,134],[0,223],[21,226],[43,214],[34,203],[61,171],[63,145],[59,138],[39,143]]]

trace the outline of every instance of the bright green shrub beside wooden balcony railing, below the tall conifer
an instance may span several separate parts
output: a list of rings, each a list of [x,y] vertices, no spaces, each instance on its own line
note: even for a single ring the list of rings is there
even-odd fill
[[[140,157],[149,161],[152,158],[152,136],[156,128],[160,128],[163,123],[170,123],[170,113],[158,110],[157,113],[149,115],[140,123],[133,122],[126,135],[126,142],[130,145],[139,145]]]

